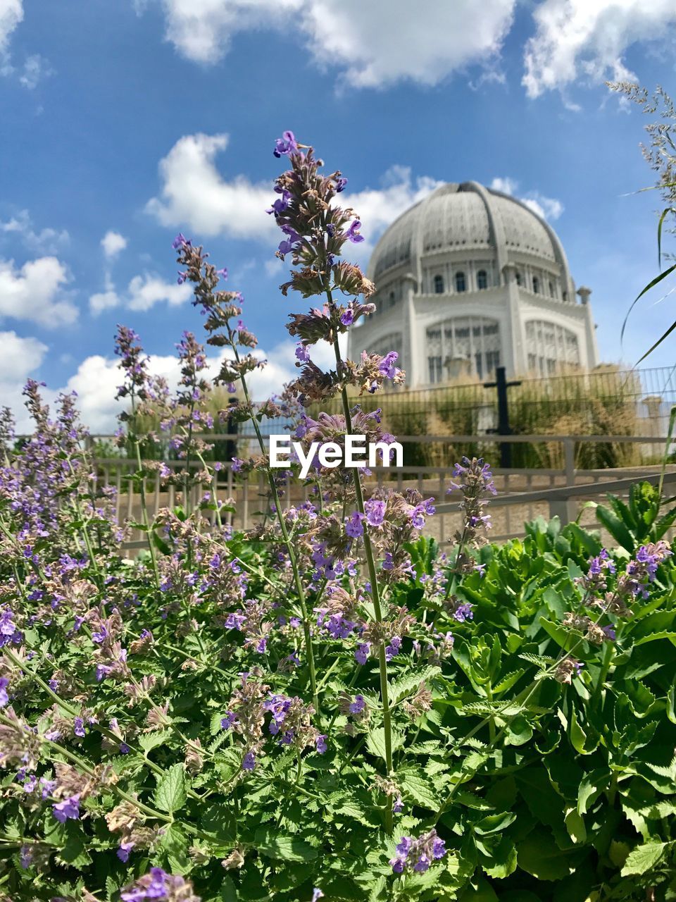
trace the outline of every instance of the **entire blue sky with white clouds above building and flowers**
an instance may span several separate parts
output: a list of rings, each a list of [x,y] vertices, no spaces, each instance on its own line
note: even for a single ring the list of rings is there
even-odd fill
[[[645,117],[604,79],[676,94],[675,50],[672,0],[0,0],[0,404],[30,375],[111,428],[118,322],[170,375],[200,329],[178,230],[228,267],[270,361],[257,391],[279,388],[300,301],[264,210],[287,128],[349,178],[360,262],[439,182],[527,199],[593,290],[601,357],[633,364],[674,304],[655,294],[620,346],[659,198],[632,193]]]

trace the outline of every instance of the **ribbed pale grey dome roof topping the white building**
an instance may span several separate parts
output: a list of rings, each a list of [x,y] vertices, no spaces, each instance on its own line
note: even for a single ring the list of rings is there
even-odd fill
[[[502,268],[516,254],[559,264],[568,280],[568,263],[553,228],[524,203],[475,181],[442,185],[388,227],[371,254],[369,276],[379,276],[427,254],[468,251],[495,253]]]

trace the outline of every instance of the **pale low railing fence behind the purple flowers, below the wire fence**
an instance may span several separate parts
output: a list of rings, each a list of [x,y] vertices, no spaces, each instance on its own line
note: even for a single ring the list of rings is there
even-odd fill
[[[205,436],[205,438],[208,438]],[[516,538],[524,535],[525,521],[538,516],[550,519],[558,516],[562,523],[576,520],[591,525],[593,512],[580,502],[602,500],[607,492],[620,497],[626,496],[631,485],[639,480],[656,483],[660,479],[659,465],[640,465],[615,468],[578,468],[575,465],[576,448],[584,444],[617,442],[619,444],[644,444],[653,446],[656,456],[662,456],[667,439],[654,436],[403,436],[399,440],[411,439],[437,443],[451,448],[458,443],[493,444],[500,442],[543,442],[562,447],[561,467],[548,468],[494,468],[498,496],[491,501],[494,523],[492,538]],[[671,444],[671,441],[670,441]],[[169,469],[180,472],[183,461],[166,461]],[[199,465],[194,465],[195,469]],[[138,486],[134,488],[132,474],[136,472],[136,462],[130,458],[116,457],[96,460],[97,479],[100,485],[116,488],[116,515],[122,525],[125,520],[138,522],[141,519],[141,497]],[[192,469],[192,466],[191,466]],[[390,466],[374,468],[367,484],[388,484],[398,491],[416,488],[426,498],[433,498],[437,516],[428,520],[426,533],[431,533],[440,542],[448,541],[461,525],[461,511],[458,502],[448,500],[447,492],[453,482],[451,459],[443,465]],[[676,483],[676,465],[667,465],[664,483],[670,487]],[[200,491],[194,489],[191,503],[200,501]],[[159,474],[146,479],[146,501],[151,514],[160,508],[174,507],[180,499],[180,490],[169,485],[163,487]],[[249,529],[256,522],[269,516],[267,481],[263,474],[242,477],[233,474],[230,462],[224,462],[218,474],[216,493],[220,500],[232,499],[233,512],[228,512],[224,520],[237,529]],[[284,486],[284,501],[297,505],[312,498],[312,486],[288,478]],[[580,514],[581,510],[581,514]],[[215,512],[210,511],[212,522]],[[598,525],[598,524],[597,524]],[[132,551],[142,548],[145,540],[142,534],[131,535],[124,548]]]

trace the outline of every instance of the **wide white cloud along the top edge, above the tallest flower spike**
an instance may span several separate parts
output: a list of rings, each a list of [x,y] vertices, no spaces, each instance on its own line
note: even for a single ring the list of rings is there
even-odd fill
[[[162,0],[166,36],[179,53],[215,63],[237,32],[300,32],[317,65],[343,70],[356,87],[400,79],[434,85],[472,63],[495,60],[515,0]],[[138,7],[137,7],[138,8]]]

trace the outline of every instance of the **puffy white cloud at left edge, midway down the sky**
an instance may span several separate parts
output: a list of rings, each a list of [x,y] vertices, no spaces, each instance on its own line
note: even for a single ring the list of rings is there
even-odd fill
[[[56,257],[23,264],[0,260],[0,318],[28,319],[45,327],[66,326],[78,318],[78,308],[64,296],[69,281]]]

